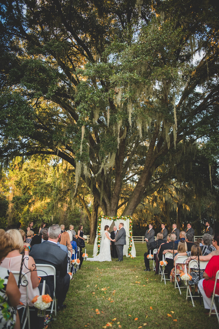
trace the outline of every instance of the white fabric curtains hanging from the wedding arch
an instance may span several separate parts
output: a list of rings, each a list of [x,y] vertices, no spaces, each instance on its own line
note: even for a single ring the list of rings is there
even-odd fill
[[[119,229],[119,223],[123,223],[124,225],[124,229],[126,231],[126,245],[124,245],[123,247],[123,255],[128,257],[128,249],[129,249],[129,219],[113,219],[115,226],[117,227],[117,229]],[[102,238],[102,235],[104,233],[104,227],[105,225],[110,225],[112,224],[112,220],[107,219],[107,218],[102,218],[101,220],[101,227],[100,227],[100,236]],[[97,246],[97,235],[94,241],[94,246],[93,246],[93,257],[95,257],[97,255],[97,251],[98,251],[98,246]],[[101,242],[100,242],[100,251],[101,251]],[[135,245],[134,245],[134,241],[132,239],[132,247],[131,247],[131,256],[132,257],[136,257],[136,250],[135,250]]]

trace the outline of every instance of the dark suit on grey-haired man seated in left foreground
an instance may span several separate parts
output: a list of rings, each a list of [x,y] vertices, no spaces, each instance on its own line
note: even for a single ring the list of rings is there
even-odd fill
[[[36,264],[53,265],[56,270],[56,296],[58,306],[61,306],[69,290],[70,275],[67,273],[68,255],[59,246],[51,241],[34,244],[30,249],[30,256]],[[48,276],[46,283],[50,291],[54,291],[53,277]]]

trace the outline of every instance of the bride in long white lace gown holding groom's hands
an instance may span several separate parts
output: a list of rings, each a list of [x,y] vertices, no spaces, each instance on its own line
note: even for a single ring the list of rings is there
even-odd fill
[[[108,261],[111,262],[111,254],[110,254],[110,241],[112,240],[109,236],[109,226],[105,225],[104,227],[104,234],[102,236],[101,246],[100,246],[100,253],[99,255],[93,258],[87,258],[87,261],[91,262],[104,262]]]

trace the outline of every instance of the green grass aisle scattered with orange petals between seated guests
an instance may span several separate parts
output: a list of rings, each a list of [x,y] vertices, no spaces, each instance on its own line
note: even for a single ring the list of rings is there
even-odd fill
[[[91,257],[93,246],[86,248]],[[84,261],[70,282],[67,308],[49,328],[101,329],[108,322],[106,328],[217,328],[216,316],[206,316],[203,303],[195,301],[193,308],[186,301],[186,289],[180,296],[160,276],[144,272],[145,249],[146,244],[136,243],[137,257],[122,263]]]

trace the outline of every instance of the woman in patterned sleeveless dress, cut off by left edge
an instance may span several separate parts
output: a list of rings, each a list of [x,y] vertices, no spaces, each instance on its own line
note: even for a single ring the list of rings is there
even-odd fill
[[[4,230],[0,230],[0,263],[12,248],[12,240],[10,237],[6,236]],[[20,329],[20,319],[16,306],[20,302],[21,293],[15,278],[7,268],[0,266],[0,280],[2,282],[2,288],[0,290],[1,328]]]

